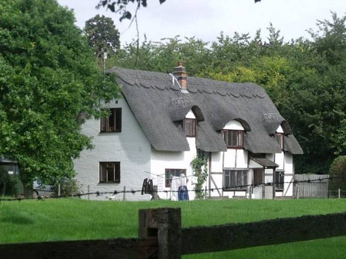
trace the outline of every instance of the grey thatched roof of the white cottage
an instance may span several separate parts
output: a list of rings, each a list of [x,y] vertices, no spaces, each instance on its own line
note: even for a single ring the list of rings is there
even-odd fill
[[[235,119],[245,128],[244,147],[252,153],[281,152],[272,136],[280,124],[289,136],[284,143],[287,151],[303,153],[289,124],[265,90],[256,84],[188,77],[189,93],[183,93],[177,83],[172,83],[169,74],[118,67],[109,73],[118,75],[130,109],[157,150],[189,150],[182,128],[176,121],[182,120],[192,109],[198,121],[198,149],[226,151],[220,130],[229,120]]]

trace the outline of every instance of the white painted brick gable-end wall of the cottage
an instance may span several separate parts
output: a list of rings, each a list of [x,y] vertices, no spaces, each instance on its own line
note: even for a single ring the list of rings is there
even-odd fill
[[[76,179],[82,185],[82,191],[87,192],[88,185],[90,191],[111,191],[140,189],[143,179],[148,174],[143,171],[150,171],[151,145],[142,132],[137,120],[133,116],[124,98],[114,100],[109,104],[109,108],[122,108],[122,132],[100,133],[100,120],[90,119],[82,126],[85,135],[93,137],[94,149],[84,150],[80,157],[74,161],[74,169],[77,172]],[[100,161],[120,161],[121,180],[120,183],[100,183],[99,182],[99,162]],[[91,199],[106,200],[106,195],[91,196]],[[116,195],[116,200],[122,200],[123,194]],[[87,198],[87,197],[85,197]],[[150,195],[135,195],[126,193],[127,201],[149,200]]]

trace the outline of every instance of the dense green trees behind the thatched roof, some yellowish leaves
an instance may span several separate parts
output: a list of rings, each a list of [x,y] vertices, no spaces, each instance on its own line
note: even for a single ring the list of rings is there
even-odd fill
[[[177,61],[188,76],[263,86],[289,121],[304,155],[295,157],[297,173],[327,173],[337,155],[346,154],[346,16],[332,14],[309,30],[311,39],[284,42],[272,24],[261,31],[233,37],[220,34],[207,43],[179,36],[161,42],[125,45],[108,66],[171,72]],[[137,56],[138,53],[138,56]]]

